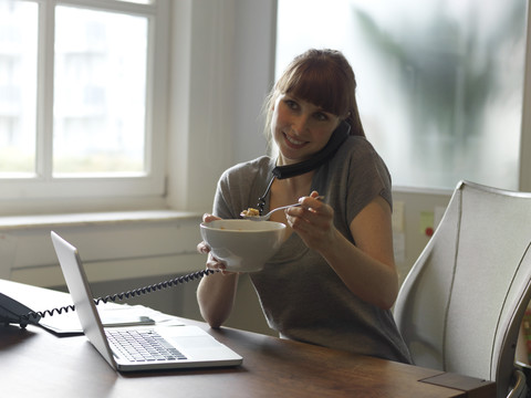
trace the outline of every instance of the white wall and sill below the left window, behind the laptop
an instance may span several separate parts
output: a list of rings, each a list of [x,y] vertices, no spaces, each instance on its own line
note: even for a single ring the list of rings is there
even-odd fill
[[[168,210],[2,218],[0,277],[64,284],[52,230],[79,249],[91,282],[196,271],[205,264],[199,222],[200,214]]]

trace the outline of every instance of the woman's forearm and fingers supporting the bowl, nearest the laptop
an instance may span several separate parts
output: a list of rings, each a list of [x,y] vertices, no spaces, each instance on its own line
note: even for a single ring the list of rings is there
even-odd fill
[[[218,218],[211,214],[205,214],[202,218],[205,222],[216,219]],[[232,311],[238,273],[226,272],[225,264],[212,256],[205,242],[200,242],[197,250],[200,253],[208,253],[207,269],[221,271],[201,279],[197,287],[197,302],[202,318],[210,327],[220,327]]]

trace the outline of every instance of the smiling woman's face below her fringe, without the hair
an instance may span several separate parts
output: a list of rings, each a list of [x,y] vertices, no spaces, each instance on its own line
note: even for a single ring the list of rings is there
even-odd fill
[[[290,94],[274,102],[271,133],[279,147],[280,164],[306,160],[321,150],[340,124],[340,118],[320,106]]]

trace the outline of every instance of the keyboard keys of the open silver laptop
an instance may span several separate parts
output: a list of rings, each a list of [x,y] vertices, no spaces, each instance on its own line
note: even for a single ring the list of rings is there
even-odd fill
[[[186,359],[177,348],[155,331],[105,329],[117,355],[131,362],[162,362]]]

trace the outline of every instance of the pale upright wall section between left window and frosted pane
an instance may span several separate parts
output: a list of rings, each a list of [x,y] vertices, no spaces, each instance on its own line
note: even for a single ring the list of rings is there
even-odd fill
[[[168,205],[202,212],[226,168],[266,151],[260,114],[273,78],[274,1],[173,6]]]

